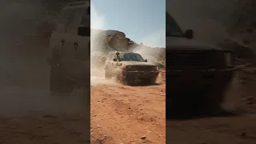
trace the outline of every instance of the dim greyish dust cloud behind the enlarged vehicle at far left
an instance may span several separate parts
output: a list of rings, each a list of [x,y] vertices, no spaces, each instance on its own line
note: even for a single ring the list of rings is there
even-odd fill
[[[50,66],[46,63],[50,50],[37,37],[37,20],[46,3],[10,1],[0,6],[0,115],[82,114],[81,90],[74,90],[71,96],[50,95]]]

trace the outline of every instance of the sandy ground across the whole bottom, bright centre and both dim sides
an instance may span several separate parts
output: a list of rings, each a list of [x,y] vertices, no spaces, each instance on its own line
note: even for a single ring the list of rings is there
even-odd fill
[[[80,90],[53,98],[46,90],[2,86],[0,143],[255,144],[255,71],[248,66],[238,71],[239,85],[226,102],[232,115],[182,120],[166,119],[164,73],[155,86],[91,78],[90,118]]]

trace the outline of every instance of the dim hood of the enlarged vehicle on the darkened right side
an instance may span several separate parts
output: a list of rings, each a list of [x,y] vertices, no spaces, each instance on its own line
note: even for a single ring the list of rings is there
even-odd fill
[[[223,50],[212,42],[197,42],[186,38],[166,37],[166,50]]]

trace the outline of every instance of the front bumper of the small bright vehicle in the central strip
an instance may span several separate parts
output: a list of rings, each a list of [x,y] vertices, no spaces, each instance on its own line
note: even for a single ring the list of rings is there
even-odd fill
[[[122,71],[125,78],[156,78],[158,77],[159,71]]]

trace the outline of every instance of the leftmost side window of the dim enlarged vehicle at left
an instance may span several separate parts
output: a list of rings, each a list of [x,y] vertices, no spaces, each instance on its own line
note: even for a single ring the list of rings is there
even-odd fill
[[[69,26],[70,23],[70,18],[74,14],[73,10],[62,10],[61,14],[58,16],[58,23],[56,26],[56,31],[59,33],[65,33],[67,30],[67,27]]]

